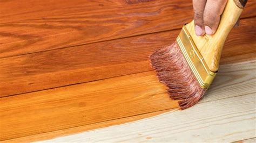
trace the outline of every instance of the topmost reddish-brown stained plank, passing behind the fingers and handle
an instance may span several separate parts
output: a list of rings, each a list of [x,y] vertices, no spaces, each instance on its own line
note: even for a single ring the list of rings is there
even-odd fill
[[[249,1],[241,17],[254,17]],[[1,1],[0,58],[180,28],[190,0]]]

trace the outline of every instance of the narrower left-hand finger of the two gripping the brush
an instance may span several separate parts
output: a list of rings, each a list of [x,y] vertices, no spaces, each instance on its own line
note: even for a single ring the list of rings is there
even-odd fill
[[[198,36],[204,35],[204,8],[206,0],[193,0],[194,9],[194,30]]]

